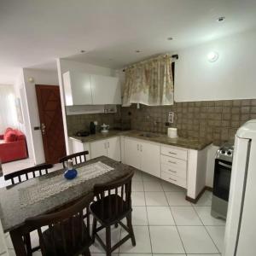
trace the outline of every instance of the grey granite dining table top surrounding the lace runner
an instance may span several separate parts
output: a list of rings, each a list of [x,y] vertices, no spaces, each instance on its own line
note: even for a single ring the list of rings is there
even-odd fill
[[[71,201],[87,195],[93,191],[93,187],[96,183],[108,183],[117,177],[124,176],[125,174],[131,172],[131,170],[136,170],[131,166],[121,164],[105,156],[100,156],[93,160],[89,160],[86,163],[79,164],[77,167],[90,165],[97,161],[101,161],[102,163],[113,167],[114,170],[104,173],[101,176],[94,177],[90,180],[85,180],[83,183],[69,187],[56,195],[52,195],[41,201],[37,201],[36,203],[26,205],[26,207],[22,207],[22,204],[20,204],[20,191],[22,189],[28,189],[37,184],[39,185],[51,177],[62,174],[64,172],[63,169],[50,172],[49,174],[41,177],[29,179],[25,182],[15,184],[14,186],[0,189],[0,218],[3,224],[4,232],[14,230],[15,228],[22,226],[26,218],[54,211],[55,209],[66,205]]]

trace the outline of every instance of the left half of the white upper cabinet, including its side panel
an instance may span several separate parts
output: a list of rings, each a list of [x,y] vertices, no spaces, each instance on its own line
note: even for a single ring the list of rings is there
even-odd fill
[[[70,72],[63,74],[66,106],[91,105],[90,74]]]

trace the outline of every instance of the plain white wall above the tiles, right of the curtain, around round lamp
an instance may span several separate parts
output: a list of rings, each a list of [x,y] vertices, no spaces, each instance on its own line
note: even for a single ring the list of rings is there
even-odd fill
[[[209,62],[207,54],[218,52]],[[256,98],[256,30],[177,52],[176,102]]]

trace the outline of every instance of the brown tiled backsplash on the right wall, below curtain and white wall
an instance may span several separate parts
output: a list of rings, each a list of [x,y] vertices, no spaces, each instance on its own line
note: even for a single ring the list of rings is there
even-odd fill
[[[177,102],[173,106],[147,107],[132,105],[121,108],[122,119],[131,119],[131,129],[166,133],[168,113],[174,112],[174,123],[180,137],[204,137],[214,143],[234,139],[239,126],[256,119],[256,99]]]

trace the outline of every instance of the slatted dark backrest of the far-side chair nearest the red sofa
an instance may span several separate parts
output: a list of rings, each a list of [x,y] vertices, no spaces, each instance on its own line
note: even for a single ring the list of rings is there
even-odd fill
[[[12,172],[4,175],[5,180],[11,180],[12,184],[21,183],[33,177],[42,176],[48,173],[48,169],[52,168],[51,164],[43,164],[38,166],[32,166],[17,172]]]

